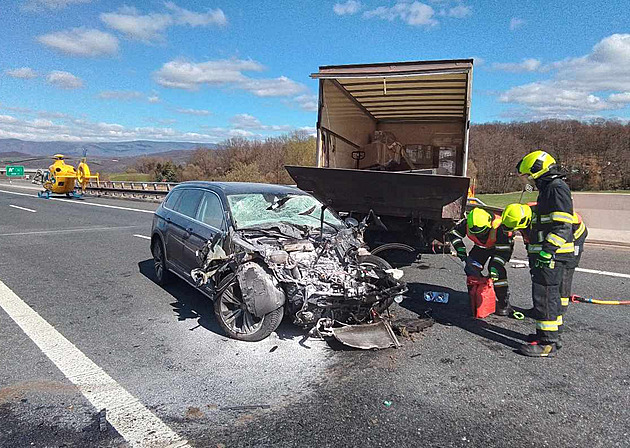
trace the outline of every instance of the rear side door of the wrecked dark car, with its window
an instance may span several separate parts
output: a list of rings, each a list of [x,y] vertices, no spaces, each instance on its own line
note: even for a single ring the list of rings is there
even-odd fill
[[[188,244],[188,238],[193,232],[195,217],[197,216],[197,209],[202,196],[203,190],[201,189],[184,189],[179,201],[173,208],[173,212],[170,214],[168,223],[167,251],[170,251],[168,254],[169,260],[179,274],[185,276],[190,276],[190,270],[187,269],[184,261],[185,247]]]

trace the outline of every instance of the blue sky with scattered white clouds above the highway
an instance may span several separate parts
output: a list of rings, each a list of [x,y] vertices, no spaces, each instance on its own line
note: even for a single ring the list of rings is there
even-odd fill
[[[630,118],[625,2],[3,0],[0,138],[312,132],[320,65],[475,58],[472,120]]]

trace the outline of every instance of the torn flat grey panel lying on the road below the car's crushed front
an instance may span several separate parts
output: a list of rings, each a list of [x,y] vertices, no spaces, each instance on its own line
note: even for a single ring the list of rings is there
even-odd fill
[[[385,320],[372,324],[330,328],[330,333],[344,345],[363,350],[400,347],[391,325]]]

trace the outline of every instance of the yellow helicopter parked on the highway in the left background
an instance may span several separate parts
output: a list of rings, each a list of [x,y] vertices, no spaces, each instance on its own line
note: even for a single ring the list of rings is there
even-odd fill
[[[99,181],[98,173],[92,174],[86,160],[86,152],[79,165],[75,168],[65,163],[66,157],[63,154],[55,154],[53,156],[53,164],[48,167],[48,171],[37,170],[33,178],[34,184],[41,184],[44,191],[37,193],[40,198],[50,198],[51,194],[65,194],[68,197],[79,198],[85,193],[90,180]],[[81,193],[77,193],[76,189],[80,189]]]

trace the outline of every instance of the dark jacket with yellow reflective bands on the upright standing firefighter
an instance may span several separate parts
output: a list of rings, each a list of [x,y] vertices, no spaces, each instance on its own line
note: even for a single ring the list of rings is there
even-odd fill
[[[571,190],[556,170],[536,179],[536,186],[538,206],[527,251],[535,254],[544,250],[558,260],[569,260],[575,250]]]

